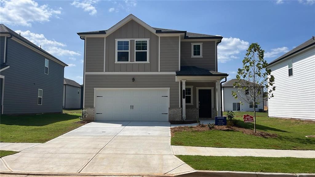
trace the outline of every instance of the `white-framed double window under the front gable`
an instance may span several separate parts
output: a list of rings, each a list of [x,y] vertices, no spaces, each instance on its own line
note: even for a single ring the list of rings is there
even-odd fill
[[[132,52],[134,47],[135,53]],[[131,50],[130,50],[131,49]],[[116,39],[116,63],[149,62],[149,39]]]

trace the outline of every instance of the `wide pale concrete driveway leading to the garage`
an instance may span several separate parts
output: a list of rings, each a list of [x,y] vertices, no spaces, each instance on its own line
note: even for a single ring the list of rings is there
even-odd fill
[[[174,156],[169,122],[92,122],[1,158],[2,172],[176,175],[194,169]]]

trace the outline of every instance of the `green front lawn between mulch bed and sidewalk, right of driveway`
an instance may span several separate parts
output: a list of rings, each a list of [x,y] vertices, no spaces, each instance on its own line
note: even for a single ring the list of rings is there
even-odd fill
[[[237,112],[236,115],[253,115],[252,112]],[[270,118],[267,113],[259,113],[257,130],[278,134],[277,138],[263,138],[244,134],[232,130],[183,131],[176,132],[171,139],[172,145],[178,146],[205,146],[231,147],[255,149],[288,149],[288,150],[315,150],[315,138],[306,138],[306,135],[315,135],[315,122],[297,119]],[[252,123],[244,123],[242,117],[238,126],[254,128]]]

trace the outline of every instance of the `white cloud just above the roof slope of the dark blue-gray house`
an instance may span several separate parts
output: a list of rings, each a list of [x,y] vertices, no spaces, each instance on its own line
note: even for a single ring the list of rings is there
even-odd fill
[[[37,46],[41,46],[42,49],[46,50],[48,53],[52,55],[57,56],[81,55],[80,53],[72,50],[62,49],[67,45],[64,43],[57,42],[54,39],[49,40],[43,34],[32,33],[31,31],[28,30],[27,31],[16,30],[15,32],[21,33],[21,36],[25,37],[26,39],[36,44]]]

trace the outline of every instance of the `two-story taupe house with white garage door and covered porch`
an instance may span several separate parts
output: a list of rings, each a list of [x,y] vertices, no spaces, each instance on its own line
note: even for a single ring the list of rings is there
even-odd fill
[[[108,30],[77,34],[84,40],[83,109],[89,119],[221,115],[220,81],[228,76],[217,72],[221,36],[153,28],[132,14]]]

